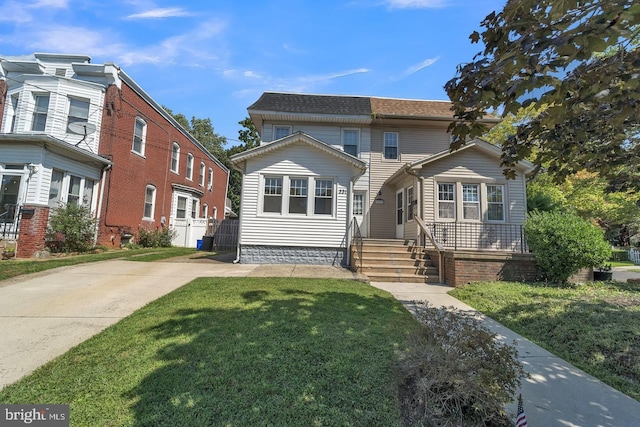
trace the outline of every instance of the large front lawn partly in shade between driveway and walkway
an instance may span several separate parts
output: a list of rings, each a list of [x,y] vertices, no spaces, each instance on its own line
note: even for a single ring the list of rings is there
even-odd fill
[[[74,426],[401,425],[393,366],[415,319],[345,280],[201,278],[3,391]]]

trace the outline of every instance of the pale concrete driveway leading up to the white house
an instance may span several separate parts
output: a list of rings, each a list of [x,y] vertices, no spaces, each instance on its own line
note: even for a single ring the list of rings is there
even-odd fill
[[[0,282],[0,389],[197,277],[357,278],[342,268],[213,259],[104,261]]]

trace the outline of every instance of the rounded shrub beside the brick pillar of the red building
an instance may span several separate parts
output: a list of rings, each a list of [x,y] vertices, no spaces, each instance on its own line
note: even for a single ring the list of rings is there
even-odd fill
[[[95,236],[96,220],[86,206],[67,203],[53,210],[47,229],[53,251],[86,252],[93,248]]]

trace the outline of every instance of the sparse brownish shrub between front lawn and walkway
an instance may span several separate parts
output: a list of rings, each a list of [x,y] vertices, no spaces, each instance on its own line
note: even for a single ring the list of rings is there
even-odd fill
[[[417,318],[399,362],[405,424],[509,425],[503,408],[525,376],[515,347],[453,307],[421,302]]]

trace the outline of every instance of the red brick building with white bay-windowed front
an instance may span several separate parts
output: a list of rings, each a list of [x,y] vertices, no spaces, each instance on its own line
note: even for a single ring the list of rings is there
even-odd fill
[[[195,247],[208,220],[224,218],[228,175],[117,65],[0,58],[0,239],[18,257],[45,247],[60,203],[90,208],[98,244],[170,227],[174,245]]]

